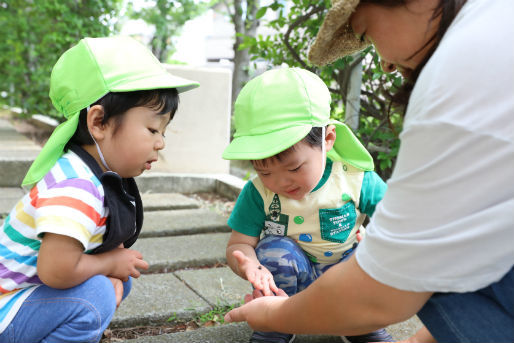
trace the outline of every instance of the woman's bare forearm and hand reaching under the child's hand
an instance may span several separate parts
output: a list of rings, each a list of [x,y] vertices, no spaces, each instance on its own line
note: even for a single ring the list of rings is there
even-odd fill
[[[252,300],[230,311],[225,320],[247,321],[262,331],[359,335],[410,318],[430,296],[379,283],[352,256],[302,292]]]

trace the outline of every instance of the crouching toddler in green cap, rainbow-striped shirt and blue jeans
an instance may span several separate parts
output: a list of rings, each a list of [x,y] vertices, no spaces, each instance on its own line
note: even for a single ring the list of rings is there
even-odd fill
[[[85,38],[60,57],[50,98],[66,121],[0,230],[0,342],[100,340],[148,268],[129,249],[143,222],[133,178],[164,148],[178,93],[197,86],[129,37]]]

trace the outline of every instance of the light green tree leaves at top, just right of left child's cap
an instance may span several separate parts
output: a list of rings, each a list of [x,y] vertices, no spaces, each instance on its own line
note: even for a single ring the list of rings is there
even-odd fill
[[[196,0],[145,0],[148,6],[136,11],[129,4],[129,16],[143,19],[155,28],[151,41],[152,52],[166,63],[175,52],[172,38],[180,34],[186,21],[202,14],[215,1],[199,3]]]

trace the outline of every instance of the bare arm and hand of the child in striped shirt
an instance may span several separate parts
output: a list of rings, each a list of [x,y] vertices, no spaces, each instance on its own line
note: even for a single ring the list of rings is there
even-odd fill
[[[45,233],[37,262],[39,278],[53,288],[73,287],[99,274],[127,280],[147,268],[138,251],[117,248],[88,255],[78,240],[52,233]]]

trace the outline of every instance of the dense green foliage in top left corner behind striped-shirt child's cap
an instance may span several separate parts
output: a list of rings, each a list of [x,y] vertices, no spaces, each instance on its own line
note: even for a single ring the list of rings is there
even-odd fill
[[[59,117],[48,98],[59,56],[83,37],[115,31],[121,0],[0,1],[0,92],[11,106]],[[78,68],[80,66],[77,66]]]

